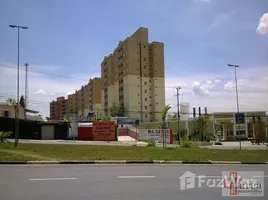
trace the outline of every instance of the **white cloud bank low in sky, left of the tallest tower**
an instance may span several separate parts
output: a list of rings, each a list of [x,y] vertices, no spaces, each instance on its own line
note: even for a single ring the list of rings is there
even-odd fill
[[[16,65],[5,64],[7,66],[14,67],[15,69],[0,67],[0,98],[1,101],[4,101],[6,98],[16,97],[17,85],[16,76]],[[52,100],[55,100],[57,96],[67,97],[68,92],[75,92],[76,89],[80,89],[81,85],[88,83],[89,78],[99,77],[100,73],[83,73],[72,74],[66,76],[71,76],[71,78],[63,78],[62,76],[62,67],[57,66],[43,66],[46,68],[46,71],[43,71],[47,74],[34,73],[40,72],[39,68],[36,66],[31,66],[31,70],[28,72],[28,99],[29,99],[29,108],[33,110],[40,111],[42,114],[49,116],[49,103]],[[50,71],[51,69],[51,71]],[[58,69],[58,70],[57,70]],[[58,75],[57,75],[58,74]],[[65,75],[64,75],[65,76]],[[20,71],[20,95],[24,95],[25,92],[25,72],[24,70]],[[38,93],[38,94],[37,94]]]

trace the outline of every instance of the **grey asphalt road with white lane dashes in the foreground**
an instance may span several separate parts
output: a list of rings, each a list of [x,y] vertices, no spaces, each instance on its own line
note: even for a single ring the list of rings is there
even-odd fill
[[[0,166],[1,200],[214,200],[221,188],[180,190],[186,171],[220,176],[221,171],[264,171],[267,165],[39,165]],[[268,180],[265,178],[267,199]],[[236,197],[236,199],[243,199]],[[249,198],[244,198],[249,199]]]

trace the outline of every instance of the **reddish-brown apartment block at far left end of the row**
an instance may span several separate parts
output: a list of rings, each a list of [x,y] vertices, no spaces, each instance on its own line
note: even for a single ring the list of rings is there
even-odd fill
[[[64,118],[67,110],[67,100],[65,97],[57,97],[56,101],[50,103],[50,118],[52,120],[61,120]]]

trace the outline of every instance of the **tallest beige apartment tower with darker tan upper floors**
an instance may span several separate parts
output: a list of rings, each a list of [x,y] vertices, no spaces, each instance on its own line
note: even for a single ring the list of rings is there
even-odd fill
[[[148,29],[139,28],[120,41],[101,63],[102,107],[123,105],[125,116],[142,122],[161,120],[165,106],[164,44],[148,41]]]

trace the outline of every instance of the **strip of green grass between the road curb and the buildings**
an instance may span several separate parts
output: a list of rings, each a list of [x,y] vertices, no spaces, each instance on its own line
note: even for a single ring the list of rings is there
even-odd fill
[[[0,161],[181,160],[268,162],[268,151],[49,144],[0,144]]]

